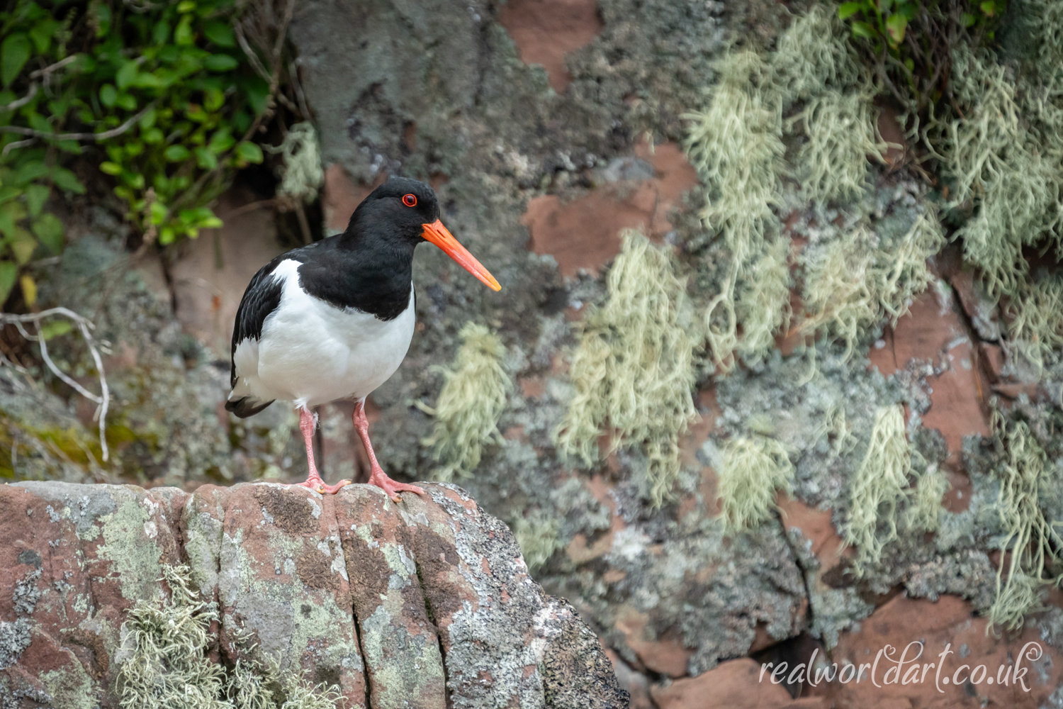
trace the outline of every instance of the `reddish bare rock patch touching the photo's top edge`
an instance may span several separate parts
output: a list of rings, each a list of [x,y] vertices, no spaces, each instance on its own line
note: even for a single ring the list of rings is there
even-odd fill
[[[517,43],[521,60],[541,64],[558,94],[572,82],[566,55],[586,47],[602,32],[595,0],[510,0],[497,20]]]

